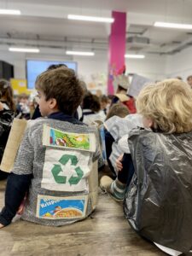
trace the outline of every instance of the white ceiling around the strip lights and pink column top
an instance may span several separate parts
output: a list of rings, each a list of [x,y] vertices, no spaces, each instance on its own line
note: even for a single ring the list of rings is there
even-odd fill
[[[110,25],[67,20],[67,15],[104,17],[112,10],[127,14],[127,52],[172,55],[192,44],[192,31],[153,26],[154,21],[192,24],[192,0],[5,0],[0,8],[20,9],[22,14],[0,16],[4,49],[27,45],[107,52]]]

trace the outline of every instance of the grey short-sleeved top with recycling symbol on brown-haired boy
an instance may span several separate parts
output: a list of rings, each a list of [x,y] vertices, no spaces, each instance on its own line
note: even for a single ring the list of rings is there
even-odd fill
[[[19,160],[16,161],[13,172],[19,175],[32,174],[33,176],[22,218],[38,224],[62,225],[85,218],[96,207],[96,202],[92,201],[91,197],[94,196],[94,193],[96,196],[97,188],[92,191],[93,194],[91,195],[88,177],[90,177],[90,172],[95,172],[96,176],[97,168],[96,166],[94,166],[94,170],[92,168],[99,153],[98,151],[93,153],[73,148],[75,146],[74,137],[71,137],[70,142],[67,142],[67,136],[69,136],[67,133],[74,133],[77,140],[84,139],[84,143],[81,144],[82,147],[85,145],[85,136],[93,135],[94,128],[80,124],[80,122],[73,124],[62,121],[60,120],[61,115],[60,119],[55,119],[54,114],[50,118],[53,119],[38,119],[29,128],[20,146]],[[63,115],[63,118],[66,117]],[[44,125],[51,127],[52,132],[54,129],[62,131],[63,137],[66,135],[65,139],[61,139],[59,134],[56,135],[56,132],[53,134],[53,140],[54,136],[58,136],[55,140],[57,140],[56,143],[58,143],[59,148],[56,148],[56,145],[53,148],[45,147],[42,144]],[[96,142],[96,140],[94,141]],[[64,143],[67,143],[69,147],[69,143],[71,143],[72,148],[65,148]],[[31,150],[29,145],[32,147]],[[27,151],[26,148],[28,148]],[[31,159],[29,159],[29,155],[31,155]],[[97,183],[97,180],[94,182]],[[64,201],[60,201],[61,199]],[[75,200],[77,204],[72,204],[72,201]],[[67,207],[63,207],[64,205]],[[59,207],[66,213],[63,213],[61,217],[55,215],[55,207]],[[70,213],[70,209],[71,216],[65,217],[65,214]],[[75,214],[77,214],[76,218]]]

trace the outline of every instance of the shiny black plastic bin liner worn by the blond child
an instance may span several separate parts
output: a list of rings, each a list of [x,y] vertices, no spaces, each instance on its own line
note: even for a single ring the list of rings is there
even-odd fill
[[[128,138],[135,168],[124,211],[140,236],[186,253],[192,248],[192,132],[134,129]]]

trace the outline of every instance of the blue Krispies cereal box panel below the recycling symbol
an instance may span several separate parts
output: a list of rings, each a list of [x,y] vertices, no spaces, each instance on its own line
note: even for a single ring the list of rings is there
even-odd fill
[[[38,218],[84,218],[87,206],[86,196],[59,198],[38,195]]]

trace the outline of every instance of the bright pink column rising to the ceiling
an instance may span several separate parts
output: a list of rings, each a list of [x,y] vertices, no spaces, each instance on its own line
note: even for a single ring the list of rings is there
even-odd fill
[[[112,12],[108,47],[108,94],[113,94],[113,76],[125,65],[126,13]]]

